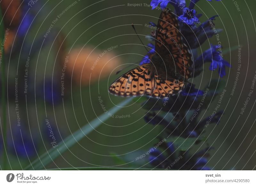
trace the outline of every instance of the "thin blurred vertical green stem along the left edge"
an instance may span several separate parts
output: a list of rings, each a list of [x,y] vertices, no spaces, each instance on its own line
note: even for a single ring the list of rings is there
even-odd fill
[[[0,17],[2,18],[2,11],[0,9]],[[4,64],[4,46],[3,46],[3,40],[4,40],[4,21],[1,19],[1,43],[2,43],[2,59],[1,59],[1,81],[2,81],[2,135],[3,135],[3,141],[4,141],[4,151],[3,151],[3,170],[7,170],[7,127],[6,127],[6,103],[5,103],[5,64]]]

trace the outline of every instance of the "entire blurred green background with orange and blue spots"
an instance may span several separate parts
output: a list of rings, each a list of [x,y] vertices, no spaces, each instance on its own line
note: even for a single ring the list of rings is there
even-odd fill
[[[128,6],[128,3],[150,4],[150,1],[141,0],[38,0],[31,6],[29,2],[2,0],[0,3],[4,17],[1,25],[8,30],[0,66],[5,65],[8,169],[23,169],[52,147],[49,123],[58,145],[65,137],[104,113],[99,96],[107,110],[125,99],[110,95],[108,87],[132,67],[116,75],[118,70],[129,63],[139,62],[146,54],[131,24],[136,25],[139,35],[149,35],[151,30],[144,25],[157,22],[160,14],[159,10],[152,11],[147,6]],[[224,58],[232,65],[222,78],[227,90],[221,103],[224,115],[217,126],[206,129],[206,136],[209,135],[207,143],[214,147],[208,166],[216,170],[252,170],[256,166],[256,90],[244,114],[239,116],[256,73],[255,5],[255,1],[245,0],[236,0],[236,4],[235,1],[201,0],[196,4],[197,12],[203,14],[201,21],[219,15],[214,21],[215,27],[223,29],[220,41],[223,50],[227,51]],[[145,36],[141,38],[148,43]],[[214,36],[209,41],[218,43]],[[108,51],[113,46],[117,47]],[[202,51],[206,50],[209,42],[201,47]],[[230,96],[236,78],[237,48],[242,48],[241,74],[234,95]],[[105,50],[108,52],[93,68]],[[193,80],[197,89],[203,89],[210,79],[219,78],[216,71],[208,68],[209,64],[205,64],[204,73]],[[65,70],[64,80],[61,79],[62,70]],[[25,84],[28,85],[27,93],[24,93]],[[61,95],[61,87],[65,88],[64,95]],[[1,91],[4,91],[3,87]],[[217,99],[213,101],[206,115],[212,113],[217,102]],[[1,126],[2,103],[3,99]],[[143,119],[146,112],[141,103],[131,102],[115,114],[129,117],[108,119],[45,168],[140,167],[124,162],[135,160],[141,152],[151,148],[159,141],[156,137],[162,130],[160,126],[146,124]],[[4,147],[0,136],[0,163],[3,165]]]

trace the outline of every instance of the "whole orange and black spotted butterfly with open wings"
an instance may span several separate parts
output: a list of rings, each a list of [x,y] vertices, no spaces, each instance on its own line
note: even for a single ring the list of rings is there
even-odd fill
[[[111,94],[164,98],[184,87],[192,76],[193,60],[182,41],[177,17],[170,10],[161,12],[155,40],[156,52],[149,54],[150,63],[117,78],[109,87]]]

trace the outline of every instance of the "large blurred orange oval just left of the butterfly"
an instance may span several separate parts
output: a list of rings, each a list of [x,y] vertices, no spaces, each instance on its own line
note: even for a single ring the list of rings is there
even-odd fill
[[[77,84],[88,85],[91,76],[91,83],[99,78],[108,77],[109,74],[120,63],[120,58],[116,57],[113,50],[93,50],[92,48],[73,49],[68,58],[66,72],[72,74],[72,80]],[[93,50],[93,51],[92,51]]]

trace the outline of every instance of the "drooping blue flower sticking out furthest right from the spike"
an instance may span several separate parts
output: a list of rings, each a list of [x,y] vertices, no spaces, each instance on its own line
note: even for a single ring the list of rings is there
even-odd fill
[[[196,66],[202,65],[204,62],[211,62],[210,70],[214,71],[219,68],[218,72],[220,77],[226,75],[226,66],[231,67],[231,65],[223,59],[223,54],[221,50],[221,46],[219,45],[212,45],[211,48],[205,50],[205,52],[196,59],[195,64]]]

